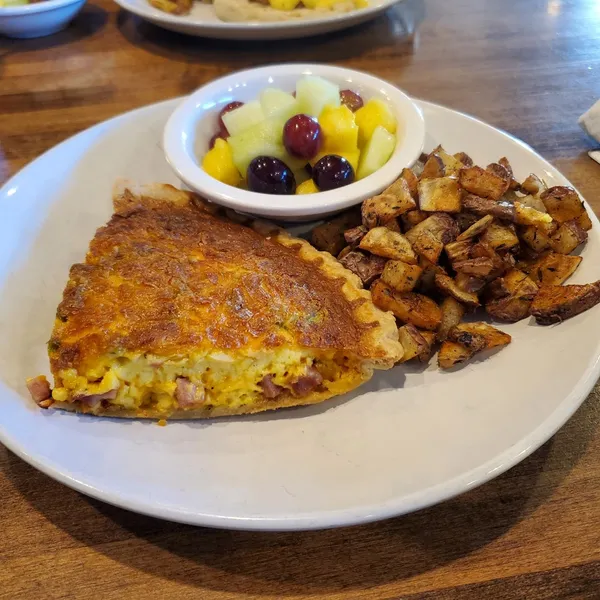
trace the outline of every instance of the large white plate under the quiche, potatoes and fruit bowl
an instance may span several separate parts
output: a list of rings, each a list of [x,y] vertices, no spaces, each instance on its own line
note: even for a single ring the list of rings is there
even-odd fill
[[[495,356],[443,373],[396,367],[359,391],[272,414],[192,423],[38,409],[24,386],[48,371],[45,341],[69,267],[111,213],[115,178],[174,182],[158,140],[177,100],[89,129],[0,190],[0,440],[59,481],[142,513],[199,525],[303,529],[361,523],[440,502],[545,442],[599,374],[600,308],[560,326],[522,321]],[[421,102],[428,148],[481,164],[508,156],[568,182],[530,148]],[[574,282],[600,278],[600,226]]]

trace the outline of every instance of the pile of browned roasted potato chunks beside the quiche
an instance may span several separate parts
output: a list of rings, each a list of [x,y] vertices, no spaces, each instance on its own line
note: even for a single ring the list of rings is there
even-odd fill
[[[438,146],[365,200],[361,214],[360,224],[341,215],[319,225],[312,243],[396,317],[401,362],[428,361],[437,344],[438,365],[449,369],[509,344],[489,323],[464,322],[476,310],[550,325],[600,302],[600,281],[563,285],[592,227],[581,198],[533,174],[518,183],[506,158],[482,168]]]

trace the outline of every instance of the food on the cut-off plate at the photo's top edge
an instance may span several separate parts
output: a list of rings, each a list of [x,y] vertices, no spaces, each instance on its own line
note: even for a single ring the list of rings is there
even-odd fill
[[[159,10],[187,15],[193,0],[149,0]],[[320,19],[366,8],[367,0],[204,0],[212,4],[218,19],[226,22],[281,22]]]

